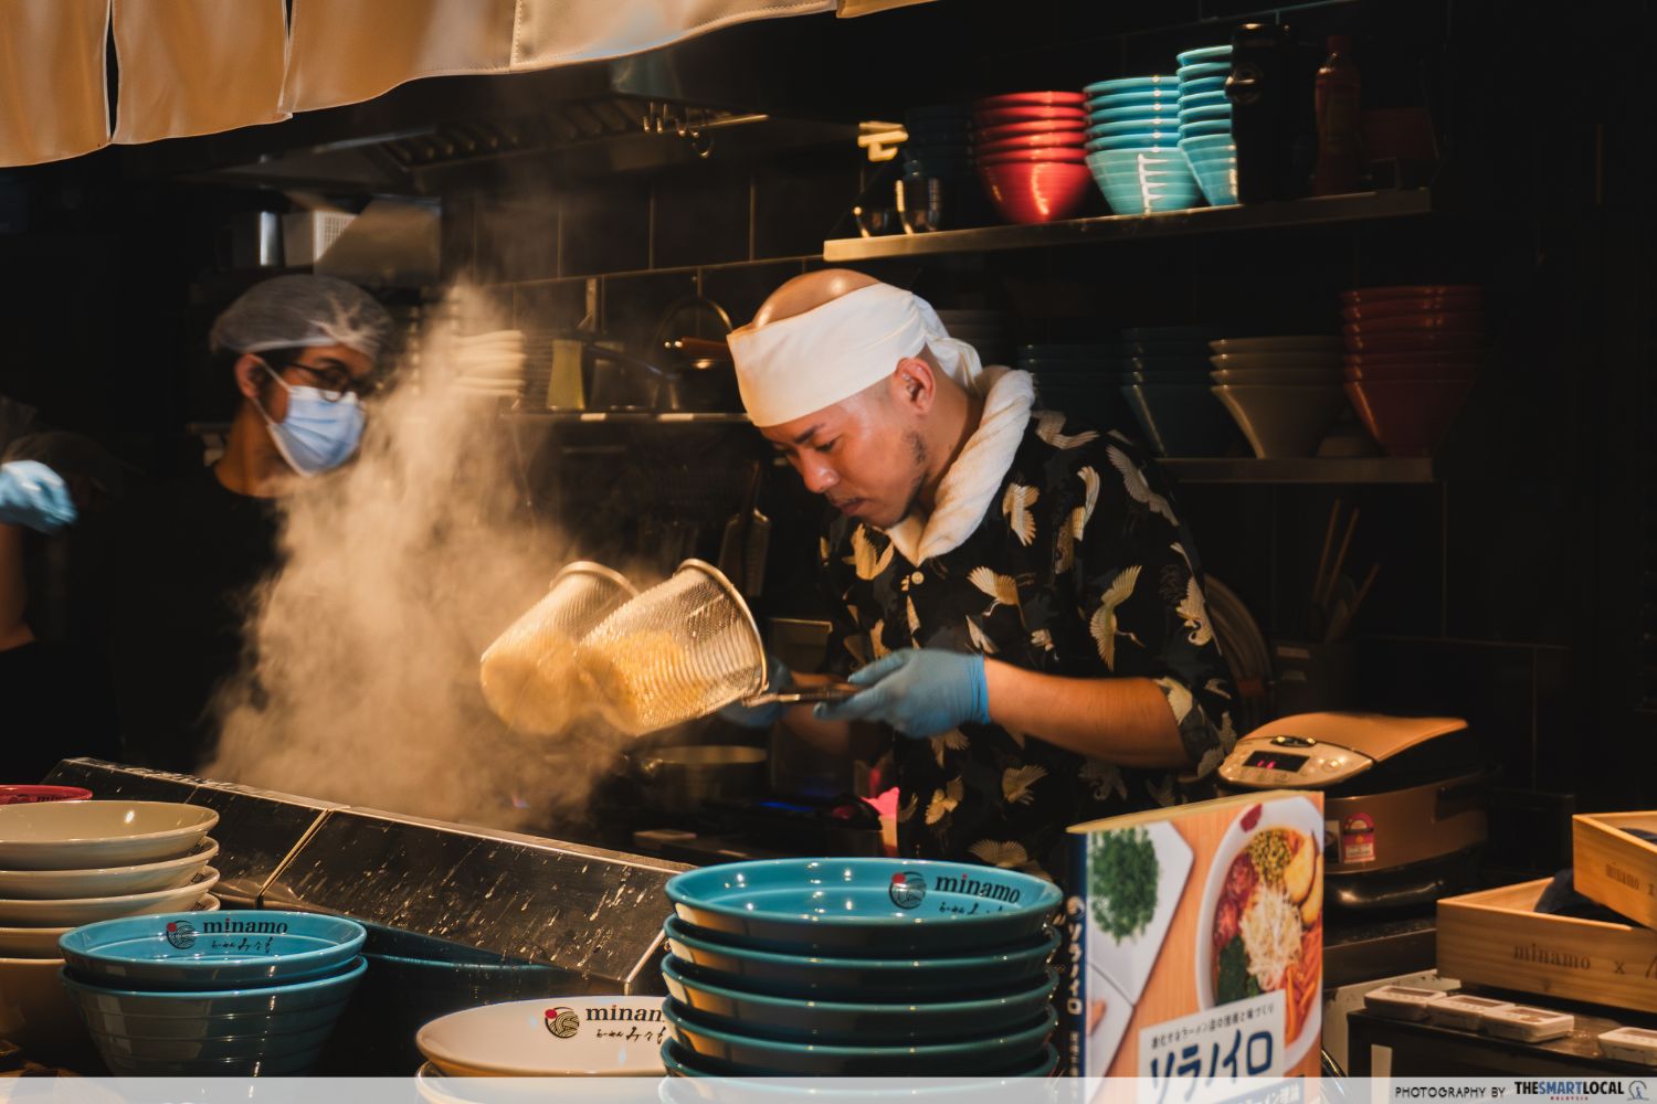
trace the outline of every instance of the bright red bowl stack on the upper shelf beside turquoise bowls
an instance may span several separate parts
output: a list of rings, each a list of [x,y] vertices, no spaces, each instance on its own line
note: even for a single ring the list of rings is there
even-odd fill
[[[973,161],[1007,222],[1075,215],[1094,187],[1082,93],[1009,93],[973,103]]]

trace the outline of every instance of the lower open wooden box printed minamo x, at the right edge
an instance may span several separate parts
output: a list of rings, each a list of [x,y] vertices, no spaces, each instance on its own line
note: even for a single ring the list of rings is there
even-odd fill
[[[1438,902],[1438,973],[1657,1011],[1657,932],[1534,912],[1551,879]]]

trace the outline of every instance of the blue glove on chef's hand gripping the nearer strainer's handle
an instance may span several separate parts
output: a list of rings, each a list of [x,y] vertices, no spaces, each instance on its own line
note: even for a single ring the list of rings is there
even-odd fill
[[[812,710],[817,720],[877,720],[921,740],[989,723],[984,657],[940,649],[903,649],[857,670],[852,682],[868,687],[843,702]]]

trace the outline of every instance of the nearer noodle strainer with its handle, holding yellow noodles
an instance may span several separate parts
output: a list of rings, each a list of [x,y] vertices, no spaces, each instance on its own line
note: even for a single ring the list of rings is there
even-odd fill
[[[857,690],[840,684],[761,694],[766,649],[754,614],[731,579],[701,559],[686,559],[605,617],[582,639],[580,664],[605,718],[635,737],[732,702],[837,702]]]

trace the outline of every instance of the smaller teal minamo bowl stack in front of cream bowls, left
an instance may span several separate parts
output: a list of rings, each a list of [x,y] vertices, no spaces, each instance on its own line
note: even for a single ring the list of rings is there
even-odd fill
[[[363,977],[363,927],[308,912],[164,912],[60,940],[63,985],[116,1076],[312,1069]]]

